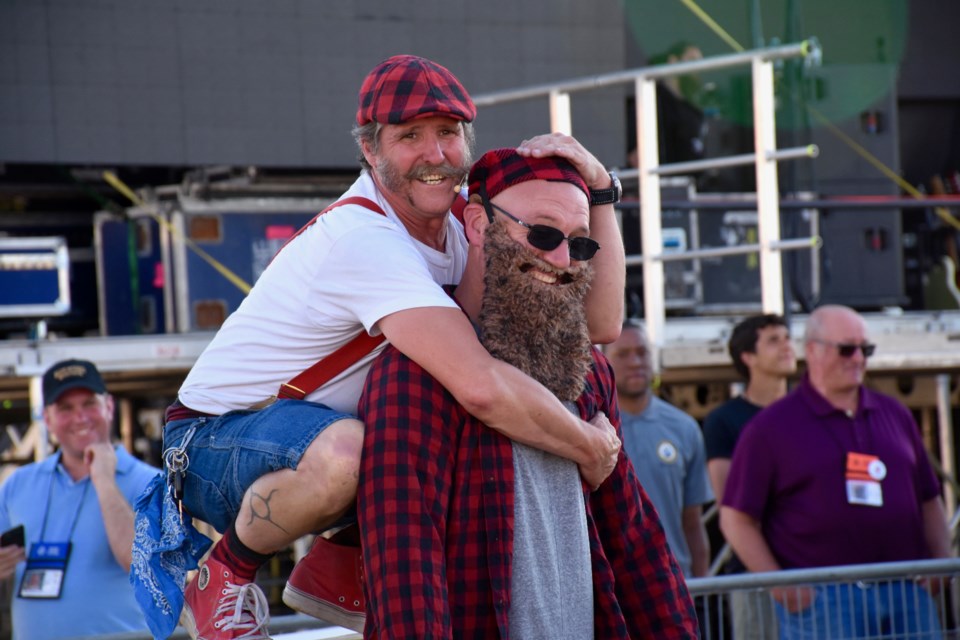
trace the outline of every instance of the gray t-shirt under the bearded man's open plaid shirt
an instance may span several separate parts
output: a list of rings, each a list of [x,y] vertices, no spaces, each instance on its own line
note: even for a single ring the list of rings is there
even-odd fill
[[[590,538],[580,471],[575,462],[517,442],[513,469],[510,635],[593,638]]]

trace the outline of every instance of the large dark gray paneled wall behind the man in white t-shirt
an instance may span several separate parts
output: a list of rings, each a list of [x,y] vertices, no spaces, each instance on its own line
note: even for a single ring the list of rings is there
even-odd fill
[[[617,0],[0,0],[0,162],[352,167],[363,76],[395,53],[471,93],[620,70]],[[574,131],[622,161],[622,92]],[[484,109],[478,147],[548,129]]]

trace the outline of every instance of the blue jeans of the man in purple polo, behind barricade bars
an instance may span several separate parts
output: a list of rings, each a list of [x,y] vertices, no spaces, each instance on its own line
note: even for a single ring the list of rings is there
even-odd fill
[[[815,587],[813,604],[788,613],[777,604],[781,640],[942,637],[937,607],[912,580]]]

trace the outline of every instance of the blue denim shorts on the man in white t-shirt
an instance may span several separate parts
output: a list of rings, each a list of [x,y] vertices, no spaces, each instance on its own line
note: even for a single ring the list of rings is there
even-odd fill
[[[296,469],[310,443],[347,413],[306,400],[278,400],[258,411],[168,422],[164,451],[180,446],[191,426],[183,506],[223,533],[240,512],[243,495],[258,478]]]

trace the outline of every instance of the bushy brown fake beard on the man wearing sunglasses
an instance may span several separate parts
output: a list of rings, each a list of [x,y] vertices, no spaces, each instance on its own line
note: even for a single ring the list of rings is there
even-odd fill
[[[492,356],[517,367],[560,400],[575,401],[593,362],[583,299],[593,269],[580,262],[558,273],[512,239],[502,224],[487,227],[480,342]],[[558,275],[555,284],[530,274]]]

